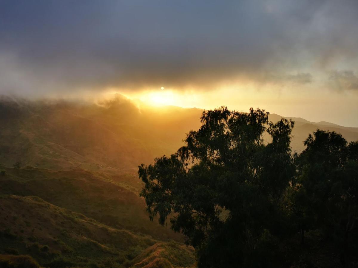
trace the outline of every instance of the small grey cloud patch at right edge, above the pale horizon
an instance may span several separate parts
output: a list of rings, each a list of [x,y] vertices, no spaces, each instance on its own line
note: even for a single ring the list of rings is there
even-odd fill
[[[358,90],[358,77],[351,70],[330,71],[329,85],[338,90]]]

